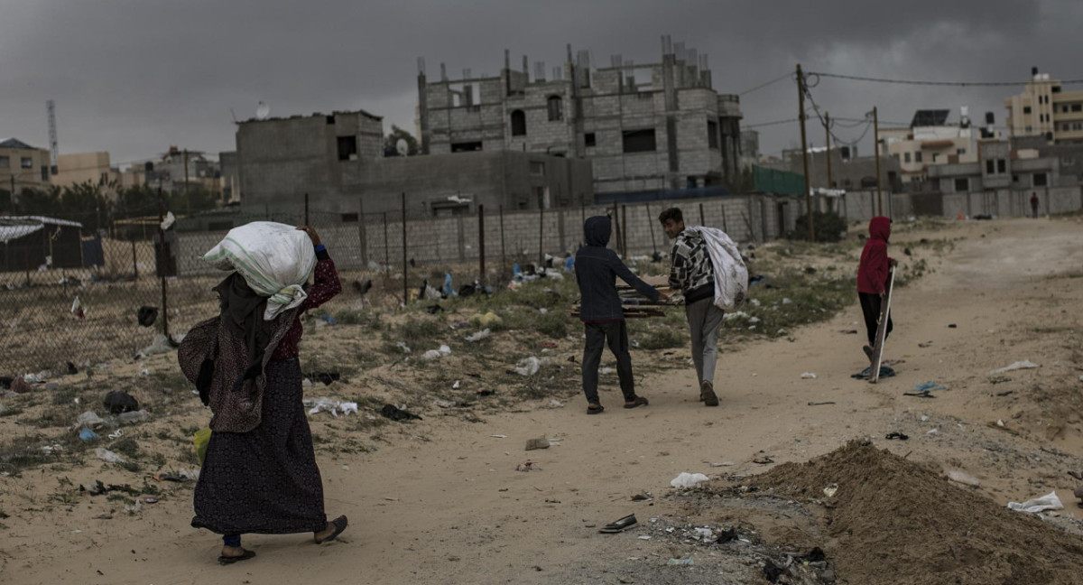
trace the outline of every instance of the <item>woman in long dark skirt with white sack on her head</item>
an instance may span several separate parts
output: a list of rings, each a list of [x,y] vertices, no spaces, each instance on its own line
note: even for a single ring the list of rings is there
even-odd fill
[[[235,271],[214,287],[219,316],[196,325],[178,352],[213,413],[192,525],[222,534],[222,564],[256,556],[240,546],[245,533],[334,541],[347,518],[324,514],[298,343],[301,314],[342,290],[335,262],[312,227],[271,222],[234,229],[204,260]]]

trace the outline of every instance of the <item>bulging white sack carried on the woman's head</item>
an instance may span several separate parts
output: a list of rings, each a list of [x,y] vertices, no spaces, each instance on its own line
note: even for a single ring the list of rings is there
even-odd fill
[[[219,270],[236,270],[257,295],[268,297],[266,321],[304,301],[308,294],[302,285],[316,268],[309,235],[272,221],[230,230],[203,260]]]

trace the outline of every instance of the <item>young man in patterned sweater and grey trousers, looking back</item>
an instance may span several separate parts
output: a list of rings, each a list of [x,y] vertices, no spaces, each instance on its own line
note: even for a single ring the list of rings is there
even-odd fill
[[[715,393],[715,364],[718,360],[718,329],[722,310],[715,307],[715,269],[707,245],[696,233],[684,231],[684,217],[671,207],[658,216],[666,235],[674,239],[669,255],[669,286],[684,295],[684,314],[692,334],[692,362],[700,381],[700,400],[718,406]]]

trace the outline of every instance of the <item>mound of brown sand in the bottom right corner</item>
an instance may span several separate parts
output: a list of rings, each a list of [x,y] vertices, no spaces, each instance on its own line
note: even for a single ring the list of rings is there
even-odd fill
[[[867,443],[745,481],[823,500],[822,546],[849,583],[1083,583],[1083,538]]]

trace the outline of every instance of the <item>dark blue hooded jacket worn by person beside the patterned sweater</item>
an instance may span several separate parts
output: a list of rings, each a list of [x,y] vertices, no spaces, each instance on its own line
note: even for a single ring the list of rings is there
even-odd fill
[[[583,224],[587,243],[575,253],[575,282],[583,297],[579,320],[584,323],[624,321],[621,297],[616,291],[616,277],[628,283],[651,300],[658,300],[658,291],[639,280],[606,248],[611,223],[605,216],[588,218]]]

